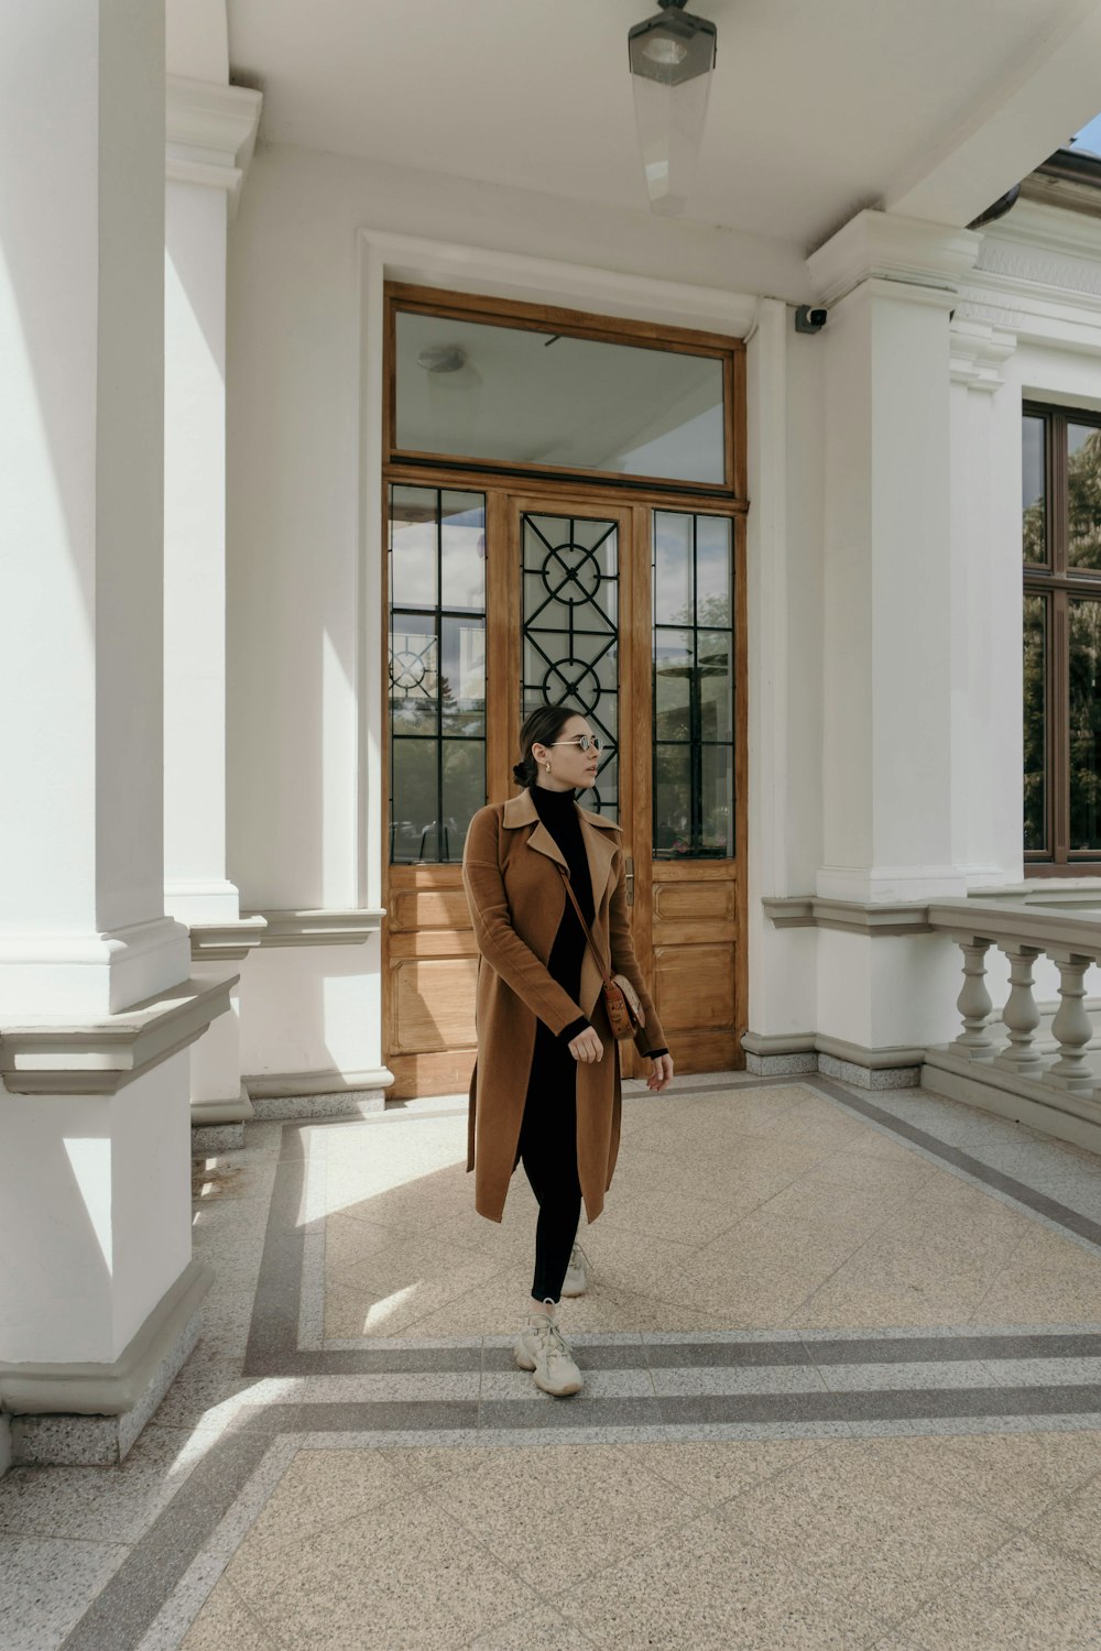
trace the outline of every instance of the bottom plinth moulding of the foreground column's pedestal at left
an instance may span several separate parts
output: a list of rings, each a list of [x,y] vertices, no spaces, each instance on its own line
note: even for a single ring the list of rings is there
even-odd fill
[[[190,1261],[112,1364],[0,1365],[12,1466],[122,1461],[195,1347],[213,1281]]]

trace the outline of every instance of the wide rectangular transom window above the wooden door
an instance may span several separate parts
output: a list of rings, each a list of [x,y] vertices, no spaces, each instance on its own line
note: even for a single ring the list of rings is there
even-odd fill
[[[731,340],[391,287],[388,462],[730,494]],[[447,302],[451,299],[451,302]]]

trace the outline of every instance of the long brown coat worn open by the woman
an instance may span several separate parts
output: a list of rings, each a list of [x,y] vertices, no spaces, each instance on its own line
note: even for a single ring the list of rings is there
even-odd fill
[[[619,826],[586,809],[578,812],[593,878],[593,939],[606,963],[611,956],[611,972],[626,974],[642,999],[645,1027],[636,1043],[645,1055],[664,1048],[665,1034],[631,943]],[[604,1014],[593,951],[584,949],[579,1004],[546,969],[566,905],[560,865],[566,860],[530,792],[480,809],[470,821],[462,882],[482,956],[467,1169],[474,1171],[475,1209],[492,1222],[502,1218],[517,1161],[536,1019],[563,1032],[588,1015],[604,1043],[602,1060],[578,1062],[578,1174],[591,1222],[604,1207],[619,1151],[619,1048]]]

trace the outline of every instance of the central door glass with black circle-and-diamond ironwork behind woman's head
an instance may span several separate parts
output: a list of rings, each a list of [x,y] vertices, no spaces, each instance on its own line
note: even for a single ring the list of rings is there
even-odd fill
[[[596,784],[581,801],[619,819],[619,528],[594,517],[525,510],[523,715],[568,705],[601,741]]]

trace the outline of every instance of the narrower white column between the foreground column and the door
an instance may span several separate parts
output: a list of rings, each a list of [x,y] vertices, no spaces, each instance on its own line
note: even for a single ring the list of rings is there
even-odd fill
[[[226,875],[226,228],[261,96],[168,76],[165,149],[165,906],[195,976],[239,963]],[[259,938],[258,934],[253,939]],[[198,1123],[239,1123],[239,994],[191,1050]]]

